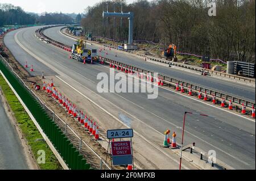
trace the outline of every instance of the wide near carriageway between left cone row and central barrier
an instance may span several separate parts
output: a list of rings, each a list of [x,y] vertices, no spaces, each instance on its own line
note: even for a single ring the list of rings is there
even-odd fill
[[[156,145],[160,149],[157,150],[157,158],[155,158],[157,151],[154,152],[154,149],[146,150],[147,155],[145,155],[145,150],[141,150],[138,146],[135,152],[139,157],[144,157],[145,161],[152,161],[151,169],[177,168],[178,157],[172,154],[175,159],[175,167],[168,165],[173,161],[170,161],[169,157],[167,158],[166,154],[162,153],[170,154],[170,151],[168,152],[166,149],[161,148],[161,145],[163,132],[166,129],[170,129],[171,132],[175,131],[177,133],[177,142],[181,142],[184,111],[214,116],[214,118],[211,118],[189,115],[186,123],[184,145],[196,142],[200,149],[205,151],[215,150],[218,159],[235,169],[255,169],[255,121],[218,108],[206,106],[197,100],[189,99],[161,87],[159,87],[159,96],[155,100],[147,99],[147,94],[142,93],[99,94],[96,89],[99,81],[96,77],[98,73],[102,72],[109,74],[108,66],[98,64],[83,65],[81,62],[69,59],[68,52],[64,52],[36,38],[35,30],[37,28],[31,27],[16,30],[5,36],[5,44],[16,59],[22,65],[24,65],[24,57],[27,58],[29,64],[32,62],[36,70],[33,74],[41,75],[41,71],[44,70],[47,75],[57,75],[55,82],[58,81],[60,88],[65,88],[64,90],[59,88],[59,90],[64,92],[71,100],[75,100],[81,110],[92,110],[91,107],[88,108],[88,105],[83,103],[89,98],[101,107],[92,106],[96,117],[97,112],[101,112],[104,109],[115,118],[111,120],[110,125],[107,119],[99,120],[101,127],[105,129],[121,128],[123,125],[117,121],[116,118],[118,118],[123,124],[133,128],[142,137],[150,141],[150,145]],[[58,32],[56,28],[51,29],[55,30],[55,33]],[[65,43],[68,37],[62,36],[62,39],[62,42]],[[17,42],[26,51],[32,52],[34,57],[32,58],[31,55],[20,49]],[[24,54],[24,56],[21,58],[19,54]],[[156,68],[164,69],[160,66],[156,66]],[[136,143],[134,144],[136,146]]]

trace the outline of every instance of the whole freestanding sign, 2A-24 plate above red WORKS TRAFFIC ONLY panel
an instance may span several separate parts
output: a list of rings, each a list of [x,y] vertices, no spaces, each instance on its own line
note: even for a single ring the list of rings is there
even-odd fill
[[[133,137],[133,129],[113,129],[107,131],[107,137],[109,139],[108,151],[110,151],[111,166],[113,165],[131,165],[133,164],[133,142],[131,138]],[[113,139],[118,139],[119,141],[111,141]],[[129,141],[122,140],[122,138],[130,138]],[[106,161],[108,154],[106,155]]]

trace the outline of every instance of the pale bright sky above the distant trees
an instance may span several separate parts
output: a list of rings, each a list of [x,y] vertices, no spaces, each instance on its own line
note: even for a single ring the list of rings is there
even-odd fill
[[[93,6],[102,0],[0,0],[0,3],[10,3],[14,6],[20,6],[28,12],[84,12],[87,6]],[[126,0],[132,3],[135,0]]]

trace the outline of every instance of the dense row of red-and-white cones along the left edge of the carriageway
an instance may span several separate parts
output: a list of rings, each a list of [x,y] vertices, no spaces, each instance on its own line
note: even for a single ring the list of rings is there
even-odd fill
[[[84,112],[81,110],[78,111],[76,105],[72,104],[67,97],[63,96],[61,92],[53,86],[53,80],[51,79],[51,83],[43,83],[43,90],[47,91],[47,93],[52,96],[52,99],[56,100],[57,103],[59,103],[60,106],[67,111],[68,115],[73,117],[73,119],[77,119],[82,127],[84,127],[85,130],[88,131],[95,140],[100,140],[98,125],[96,125],[96,121],[93,123],[93,120],[84,114]]]

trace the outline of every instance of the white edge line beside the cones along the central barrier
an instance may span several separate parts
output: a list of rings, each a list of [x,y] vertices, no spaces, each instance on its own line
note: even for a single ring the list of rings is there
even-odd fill
[[[100,66],[103,66],[103,67],[105,67],[105,68],[109,69],[109,67],[108,67],[108,66],[105,66],[105,65],[100,65]],[[115,70],[115,71],[117,71],[117,70]],[[123,73],[122,71],[117,71],[117,72],[122,73],[122,74],[125,74],[125,73]],[[127,76],[130,76],[130,77],[131,77],[131,75],[128,75],[128,74],[125,74],[125,75],[127,75]],[[137,78],[137,77],[135,77],[135,78]],[[137,79],[139,79],[139,78],[137,78]],[[141,80],[141,79],[140,79],[140,80]],[[143,81],[143,82],[148,82],[148,81],[144,81],[144,80],[142,80],[142,81]],[[150,83],[150,84],[152,85],[152,83],[151,83],[151,82],[148,82],[148,83]],[[155,86],[158,86],[158,85],[155,85]],[[236,115],[236,116],[242,117],[242,118],[244,118],[244,119],[247,119],[247,120],[253,121],[253,122],[255,123],[255,120],[250,119],[249,117],[244,117],[244,116],[242,116],[242,115],[238,115],[237,113],[230,112],[230,111],[228,111],[228,110],[224,110],[224,109],[222,109],[222,108],[220,108],[220,107],[217,107],[217,106],[214,106],[214,105],[208,104],[208,103],[206,103],[206,102],[203,102],[203,101],[201,101],[201,100],[199,100],[199,99],[195,99],[195,98],[193,98],[193,97],[191,97],[191,96],[188,96],[188,95],[185,95],[185,94],[179,94],[179,92],[173,91],[173,90],[171,90],[171,89],[167,89],[166,87],[162,87],[162,86],[158,86],[158,87],[159,87],[160,89],[165,89],[165,90],[168,90],[168,91],[174,92],[174,93],[175,93],[175,94],[177,94],[177,95],[185,96],[186,98],[189,98],[189,99],[192,99],[192,100],[196,100],[197,102],[200,102],[200,103],[206,104],[206,105],[208,105],[208,106],[211,106],[211,107],[217,108],[218,110],[222,110],[222,111],[225,111],[225,112],[228,112],[228,113],[232,113],[233,115]]]

